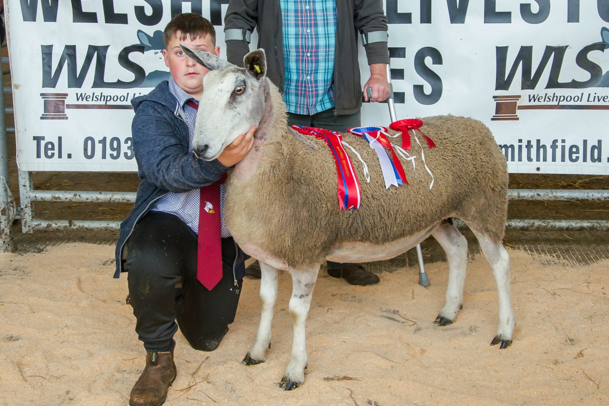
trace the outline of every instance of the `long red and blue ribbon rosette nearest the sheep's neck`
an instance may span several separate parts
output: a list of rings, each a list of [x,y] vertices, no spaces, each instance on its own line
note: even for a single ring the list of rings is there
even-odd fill
[[[353,164],[351,164],[351,159],[349,159],[347,151],[342,146],[342,134],[323,128],[304,127],[301,125],[292,125],[292,128],[303,135],[311,135],[317,139],[326,141],[326,144],[328,144],[332,156],[334,157],[334,164],[336,164],[339,207],[342,210],[351,208],[359,209],[359,203],[361,201],[359,180],[357,180],[355,169],[353,168]]]

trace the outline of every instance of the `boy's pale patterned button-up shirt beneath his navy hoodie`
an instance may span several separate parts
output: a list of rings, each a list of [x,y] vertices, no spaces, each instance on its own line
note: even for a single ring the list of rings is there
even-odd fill
[[[180,108],[184,111],[186,117],[186,125],[188,125],[188,133],[190,136],[188,152],[192,153],[192,138],[194,138],[194,123],[197,118],[197,110],[194,107],[185,105],[188,100],[194,100],[195,103],[199,104],[199,100],[194,99],[191,95],[186,93],[184,89],[175,83],[173,77],[169,77],[169,91],[178,100]],[[230,237],[230,231],[224,225],[224,198],[226,192],[224,184],[220,184],[220,234],[222,238]],[[169,192],[152,206],[153,211],[162,211],[165,213],[173,214],[180,220],[186,223],[195,234],[199,233],[199,206],[201,198],[201,189],[194,189],[192,191],[184,193]]]

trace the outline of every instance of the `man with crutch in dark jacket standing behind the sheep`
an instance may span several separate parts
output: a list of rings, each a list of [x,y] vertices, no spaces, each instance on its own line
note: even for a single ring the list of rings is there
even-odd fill
[[[243,66],[255,28],[268,58],[267,77],[283,92],[289,125],[339,132],[361,125],[358,32],[370,66],[364,89],[371,88],[372,102],[389,97],[382,0],[230,0],[224,19],[230,63]],[[247,269],[248,275],[259,273],[258,263]],[[328,262],[328,274],[353,285],[379,282],[359,264]]]

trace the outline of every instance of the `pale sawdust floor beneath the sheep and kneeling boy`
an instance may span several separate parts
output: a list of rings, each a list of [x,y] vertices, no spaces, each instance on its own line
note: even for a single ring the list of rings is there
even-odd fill
[[[125,304],[127,280],[111,278],[113,251],[66,243],[0,254],[0,404],[127,403],[144,352]],[[517,320],[508,349],[489,345],[497,295],[484,257],[470,260],[463,310],[446,327],[432,323],[443,306],[443,262],[427,265],[427,289],[414,267],[383,273],[371,287],[323,273],[307,323],[306,382],[284,392],[277,382],[292,342],[290,278],[281,276],[267,362],[253,367],[241,359],[258,325],[259,282],[246,279],[216,351],[194,351],[177,334],[178,377],[166,404],[609,403],[608,262],[510,257]]]

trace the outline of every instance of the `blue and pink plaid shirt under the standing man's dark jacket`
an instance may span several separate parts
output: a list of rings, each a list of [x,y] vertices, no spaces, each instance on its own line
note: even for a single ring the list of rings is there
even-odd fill
[[[280,0],[287,111],[312,115],[334,107],[336,0]]]

